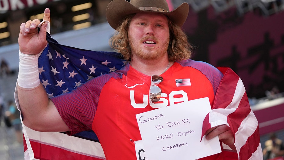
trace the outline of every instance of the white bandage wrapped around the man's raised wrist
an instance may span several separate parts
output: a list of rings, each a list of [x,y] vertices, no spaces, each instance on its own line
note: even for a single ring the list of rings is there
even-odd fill
[[[38,72],[38,55],[24,54],[19,51],[18,85],[23,88],[34,88],[40,85]]]

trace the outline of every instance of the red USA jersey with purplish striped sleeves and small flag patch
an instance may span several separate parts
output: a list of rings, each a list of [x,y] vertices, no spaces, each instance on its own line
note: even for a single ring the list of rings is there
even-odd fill
[[[161,76],[162,95],[155,104],[149,104],[151,76],[129,64],[51,99],[70,128],[69,134],[92,129],[106,159],[135,159],[131,140],[141,140],[136,114],[203,97],[209,97],[212,106],[223,75],[210,64],[184,60]]]

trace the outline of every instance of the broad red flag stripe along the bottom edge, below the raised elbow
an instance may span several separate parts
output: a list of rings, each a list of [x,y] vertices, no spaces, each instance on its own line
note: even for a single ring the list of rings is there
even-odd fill
[[[102,160],[100,158],[91,157],[89,155],[82,155],[72,151],[68,151],[59,147],[41,144],[31,141],[31,147],[34,151],[34,158],[47,160],[47,159],[84,159],[84,160]],[[86,146],[87,147],[87,146]]]

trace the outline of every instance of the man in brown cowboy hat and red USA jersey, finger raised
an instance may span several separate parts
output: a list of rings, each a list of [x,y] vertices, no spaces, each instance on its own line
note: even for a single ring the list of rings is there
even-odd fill
[[[210,64],[189,60],[192,47],[180,28],[188,11],[187,3],[169,12],[165,0],[113,0],[106,17],[117,34],[110,42],[129,63],[119,71],[93,78],[70,93],[50,99],[40,84],[37,63],[38,53],[47,44],[47,23],[41,25],[39,32],[39,20],[21,24],[18,97],[24,124],[38,131],[69,135],[93,130],[106,159],[135,159],[132,142],[141,140],[136,114],[203,97],[208,97],[214,108],[223,74]],[[46,9],[44,20],[49,21],[49,16]],[[190,78],[192,85],[178,86],[178,78]],[[241,107],[250,113],[247,104]],[[257,123],[254,115],[251,117]],[[258,128],[257,124],[254,126]],[[243,144],[240,146],[235,140],[235,130],[235,126],[223,124],[206,129],[207,139],[218,136],[230,151],[222,150],[203,159],[238,159]],[[257,131],[251,135],[258,135],[256,147],[245,154],[251,159],[260,159]]]

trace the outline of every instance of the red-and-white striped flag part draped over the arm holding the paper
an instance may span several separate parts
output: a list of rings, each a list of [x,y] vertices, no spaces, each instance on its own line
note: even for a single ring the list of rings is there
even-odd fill
[[[202,136],[218,125],[230,126],[240,160],[263,159],[257,118],[250,108],[239,76],[228,67],[217,67],[224,75],[218,86],[212,110],[203,121]],[[224,149],[230,148],[222,144]]]

